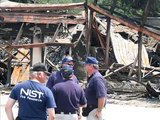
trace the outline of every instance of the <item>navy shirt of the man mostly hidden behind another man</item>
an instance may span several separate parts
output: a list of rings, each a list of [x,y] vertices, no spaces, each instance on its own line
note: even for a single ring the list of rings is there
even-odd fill
[[[75,75],[73,75],[73,81],[75,81],[76,83],[79,83],[78,82],[78,79],[77,79],[77,77],[75,76]],[[46,84],[46,86],[49,88],[49,89],[51,89],[55,84],[57,84],[57,83],[60,83],[60,82],[64,82],[64,79],[63,79],[63,76],[62,76],[62,74],[61,74],[61,71],[56,71],[56,72],[53,72],[51,75],[50,75],[50,77],[49,77],[49,79],[48,79],[48,81],[47,81],[47,84]]]

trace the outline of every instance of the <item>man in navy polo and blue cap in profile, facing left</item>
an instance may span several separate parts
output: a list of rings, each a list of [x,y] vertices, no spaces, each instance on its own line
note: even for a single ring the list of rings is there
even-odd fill
[[[84,63],[84,67],[88,73],[88,84],[85,90],[87,98],[87,107],[83,109],[83,115],[87,116],[87,120],[105,120],[104,107],[106,104],[106,87],[105,79],[98,71],[98,61],[94,57],[88,57]]]

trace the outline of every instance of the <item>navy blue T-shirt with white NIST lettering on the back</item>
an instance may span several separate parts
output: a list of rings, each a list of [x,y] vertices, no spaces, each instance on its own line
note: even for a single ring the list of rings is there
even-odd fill
[[[56,107],[51,90],[32,80],[16,85],[10,98],[18,100],[18,116],[22,120],[47,120],[47,108]]]

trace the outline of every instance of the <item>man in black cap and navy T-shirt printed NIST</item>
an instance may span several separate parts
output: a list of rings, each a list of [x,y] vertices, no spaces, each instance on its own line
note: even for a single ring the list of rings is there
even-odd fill
[[[18,118],[20,120],[48,120],[55,119],[56,107],[52,92],[46,86],[46,76],[49,74],[43,63],[31,67],[31,80],[16,85],[9,96],[5,111],[8,120],[13,120],[12,107],[16,101],[19,104]],[[47,112],[47,113],[46,113]]]

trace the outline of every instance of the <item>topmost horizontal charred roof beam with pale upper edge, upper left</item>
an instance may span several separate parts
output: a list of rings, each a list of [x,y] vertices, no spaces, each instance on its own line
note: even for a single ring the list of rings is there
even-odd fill
[[[15,3],[15,2],[14,2]],[[0,4],[0,11],[82,10],[84,2],[70,4]]]

